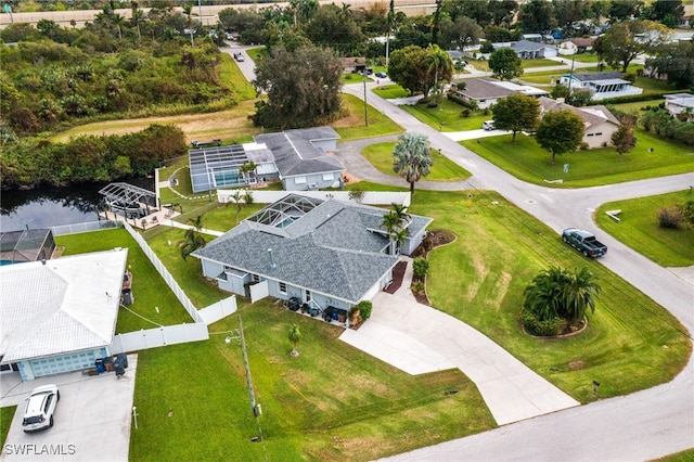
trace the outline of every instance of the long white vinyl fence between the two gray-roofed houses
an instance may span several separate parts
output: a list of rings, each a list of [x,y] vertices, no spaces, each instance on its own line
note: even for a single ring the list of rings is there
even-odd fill
[[[257,204],[272,204],[278,202],[290,194],[300,194],[308,197],[321,198],[327,201],[336,198],[338,201],[354,202],[349,198],[349,191],[256,191],[256,190],[217,190],[217,201],[226,203],[234,203],[232,195],[240,192],[242,195],[249,192],[253,195],[253,202]],[[402,204],[410,205],[409,192],[394,192],[394,191],[365,191],[361,204],[369,205],[389,205],[389,204]]]

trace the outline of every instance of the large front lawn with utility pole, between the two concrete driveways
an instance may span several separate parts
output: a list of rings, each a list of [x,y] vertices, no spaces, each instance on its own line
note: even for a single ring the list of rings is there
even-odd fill
[[[267,299],[240,313],[264,441],[250,442],[259,425],[240,343],[224,342],[239,328],[230,316],[207,342],[140,352],[130,458],[365,461],[494,427],[460,371],[411,376],[339,342],[342,329]],[[290,356],[293,323],[298,358]]]

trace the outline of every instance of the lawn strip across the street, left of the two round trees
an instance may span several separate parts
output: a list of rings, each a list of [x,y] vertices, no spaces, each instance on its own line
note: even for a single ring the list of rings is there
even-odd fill
[[[470,117],[463,117],[461,113],[465,107],[447,98],[441,100],[438,107],[427,107],[426,104],[402,105],[400,107],[420,121],[441,131],[476,130],[481,128],[485,120],[491,118],[491,114],[485,115],[484,111],[473,111]],[[442,126],[439,125],[441,123],[444,123]]]

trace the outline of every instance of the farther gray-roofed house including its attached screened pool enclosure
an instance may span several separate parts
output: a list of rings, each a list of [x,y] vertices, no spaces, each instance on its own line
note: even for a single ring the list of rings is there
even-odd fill
[[[306,191],[339,184],[345,167],[335,151],[339,134],[331,127],[314,127],[258,134],[254,143],[190,150],[193,192],[254,184],[280,179],[286,191]],[[244,164],[256,169],[243,174]]]

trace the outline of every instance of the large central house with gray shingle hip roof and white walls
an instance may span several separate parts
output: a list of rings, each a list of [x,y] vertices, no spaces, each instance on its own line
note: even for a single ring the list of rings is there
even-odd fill
[[[247,295],[248,284],[266,284],[267,295],[277,298],[348,309],[393,279],[398,257],[387,253],[381,228],[386,213],[288,194],[191,255],[224,291]],[[411,217],[403,253],[416,248],[430,222]]]

